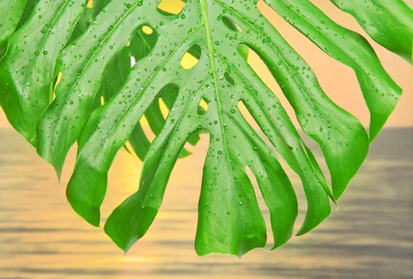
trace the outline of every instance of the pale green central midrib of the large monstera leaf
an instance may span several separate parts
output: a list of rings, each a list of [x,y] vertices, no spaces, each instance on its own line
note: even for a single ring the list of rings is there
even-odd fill
[[[226,157],[226,162],[228,163],[229,166],[229,172],[231,173],[231,188],[234,188],[234,179],[233,179],[233,172],[231,169],[231,163],[229,159],[229,153],[228,153],[228,148],[226,146],[226,136],[225,136],[225,130],[223,126],[223,120],[222,120],[222,112],[224,110],[221,107],[220,104],[220,96],[218,94],[218,78],[216,75],[216,67],[215,67],[215,59],[214,59],[214,48],[213,48],[213,43],[211,41],[211,26],[209,24],[209,16],[208,16],[208,8],[207,8],[207,0],[200,0],[200,5],[201,5],[201,13],[202,13],[202,21],[204,22],[204,30],[205,30],[205,36],[207,39],[207,47],[208,47],[208,54],[209,54],[209,63],[211,64],[211,74],[213,76],[213,87],[214,87],[214,92],[215,92],[215,98],[217,99],[217,107],[218,107],[218,117],[220,118],[220,127],[222,131],[222,141],[223,141],[223,146],[225,150],[225,157]],[[235,197],[235,190],[233,189],[231,191],[231,194],[233,197]],[[236,198],[236,197],[235,197]],[[240,216],[240,209],[235,207],[237,209],[237,215]],[[241,225],[241,219],[237,219],[238,223]],[[240,230],[240,234],[242,236],[242,241],[244,241],[244,232]],[[243,247],[244,245],[242,245]]]

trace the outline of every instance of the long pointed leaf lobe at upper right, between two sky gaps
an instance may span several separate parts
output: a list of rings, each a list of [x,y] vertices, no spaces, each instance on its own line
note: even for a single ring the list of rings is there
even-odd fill
[[[266,3],[326,54],[354,69],[371,113],[372,142],[394,111],[402,89],[387,74],[368,41],[329,19],[308,0],[266,0]]]

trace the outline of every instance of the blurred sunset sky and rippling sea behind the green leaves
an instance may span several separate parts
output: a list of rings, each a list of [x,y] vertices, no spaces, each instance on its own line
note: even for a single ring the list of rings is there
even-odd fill
[[[52,167],[13,131],[0,109],[0,278],[413,278],[413,67],[372,41],[352,16],[330,1],[312,2],[337,23],[363,34],[404,89],[399,106],[341,198],[339,210],[327,221],[273,252],[255,249],[242,260],[198,257],[193,242],[209,144],[204,135],[200,144],[188,147],[193,155],[176,164],[157,218],[124,256],[101,228],[85,223],[66,201],[65,185],[76,148],[59,186]],[[405,2],[413,7],[412,0]],[[328,96],[368,126],[370,116],[352,69],[324,54],[262,1],[259,5],[313,68]],[[262,61],[253,55],[248,59],[293,115]],[[321,153],[316,155],[326,170]],[[136,157],[118,154],[109,172],[101,223],[138,190],[141,166]],[[297,175],[284,169],[299,197],[298,228],[306,200]],[[257,196],[271,247],[268,210]]]

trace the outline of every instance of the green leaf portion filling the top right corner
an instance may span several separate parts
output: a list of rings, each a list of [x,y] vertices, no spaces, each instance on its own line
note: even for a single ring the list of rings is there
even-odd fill
[[[413,65],[413,10],[402,0],[331,0],[374,41]]]

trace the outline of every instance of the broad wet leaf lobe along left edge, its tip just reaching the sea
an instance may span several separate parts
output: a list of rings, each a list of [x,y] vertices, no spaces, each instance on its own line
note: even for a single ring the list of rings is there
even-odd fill
[[[0,102],[10,124],[33,146],[37,120],[52,99],[56,58],[84,8],[85,0],[40,1],[1,60]]]

